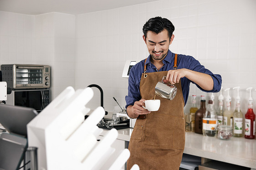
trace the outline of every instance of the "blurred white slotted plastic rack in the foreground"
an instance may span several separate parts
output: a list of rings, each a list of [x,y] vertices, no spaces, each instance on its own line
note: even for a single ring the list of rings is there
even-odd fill
[[[105,115],[103,107],[84,121],[90,111],[85,105],[92,97],[90,87],[77,91],[67,87],[27,125],[29,146],[38,148],[38,170],[120,170],[128,160],[128,149],[116,160],[111,159],[116,157],[111,147],[118,136],[116,129],[97,141],[102,132],[97,123]],[[106,163],[111,166],[105,167]],[[139,170],[138,165],[132,170]]]

